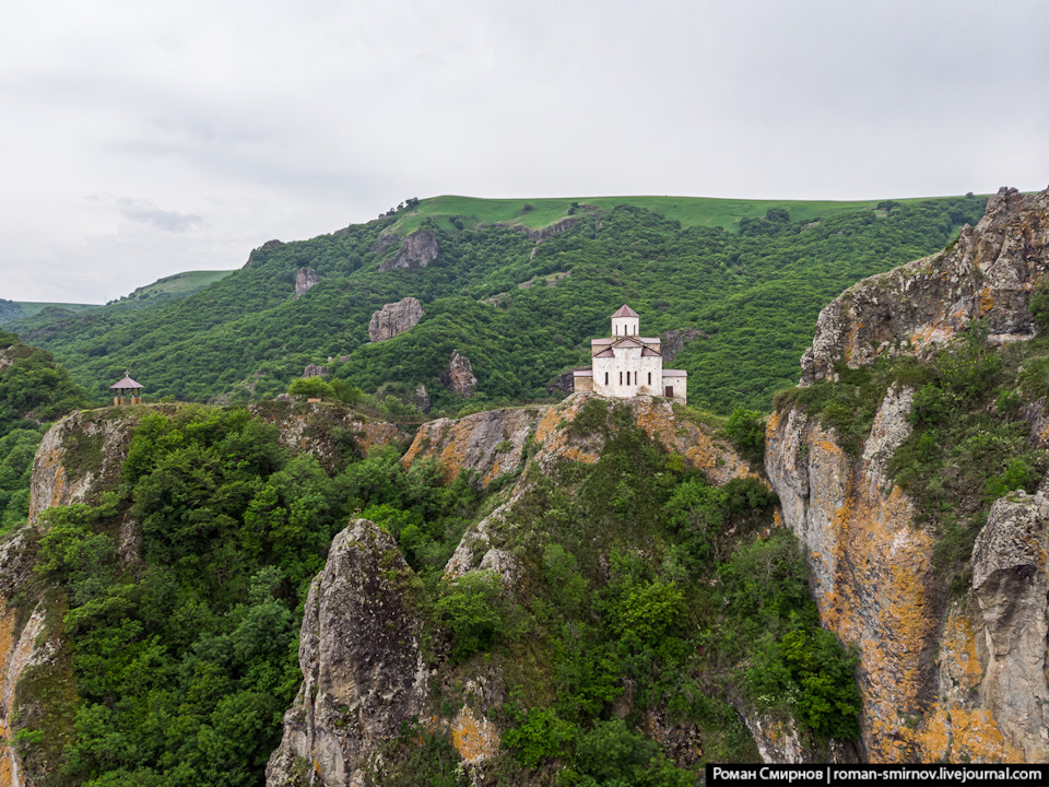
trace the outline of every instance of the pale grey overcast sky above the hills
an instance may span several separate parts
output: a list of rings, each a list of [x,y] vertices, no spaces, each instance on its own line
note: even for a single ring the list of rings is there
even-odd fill
[[[1049,185],[1049,0],[42,0],[0,297],[102,303],[408,197]]]

